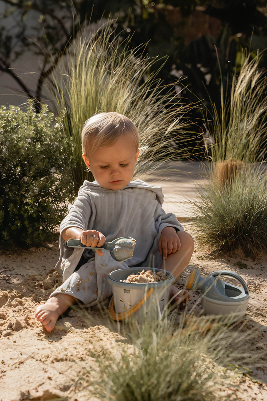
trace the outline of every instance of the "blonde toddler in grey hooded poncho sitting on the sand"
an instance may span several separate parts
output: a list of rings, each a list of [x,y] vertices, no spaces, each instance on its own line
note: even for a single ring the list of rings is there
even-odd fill
[[[139,155],[138,130],[124,115],[98,113],[89,118],[82,130],[83,160],[95,181],[86,181],[78,192],[69,214],[60,226],[60,257],[56,265],[63,284],[36,310],[36,319],[47,331],[53,330],[59,316],[71,304],[93,306],[111,296],[107,275],[116,269],[146,267],[154,255],[155,267],[171,271],[177,279],[188,265],[194,241],[183,231],[175,215],[162,209],[160,187],[142,180],[131,181]],[[131,259],[119,263],[101,249],[69,248],[69,238],[80,239],[90,247],[105,241],[133,237],[136,247]],[[187,291],[176,301],[188,299]]]

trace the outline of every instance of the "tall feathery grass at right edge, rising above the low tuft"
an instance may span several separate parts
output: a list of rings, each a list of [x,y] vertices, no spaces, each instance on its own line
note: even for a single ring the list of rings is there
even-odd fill
[[[267,149],[267,78],[259,69],[261,55],[240,53],[240,71],[233,75],[230,97],[221,84],[220,113],[212,104],[212,161],[259,162]]]

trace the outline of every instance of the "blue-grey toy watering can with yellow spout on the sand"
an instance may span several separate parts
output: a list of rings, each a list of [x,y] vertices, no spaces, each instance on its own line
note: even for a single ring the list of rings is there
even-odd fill
[[[242,287],[224,282],[220,278],[222,276],[237,279]],[[186,289],[194,291],[197,288],[201,290],[204,314],[231,315],[232,322],[240,320],[245,315],[249,303],[249,290],[239,274],[228,270],[218,270],[204,277],[194,269],[187,280]]]

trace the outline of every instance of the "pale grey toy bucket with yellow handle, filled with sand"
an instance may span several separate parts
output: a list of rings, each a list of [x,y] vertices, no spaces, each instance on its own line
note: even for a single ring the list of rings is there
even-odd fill
[[[112,287],[113,300],[109,305],[109,314],[114,320],[126,320],[130,316],[137,318],[138,323],[148,317],[159,318],[166,308],[171,284],[174,275],[169,271],[167,279],[157,283],[123,283],[129,274],[137,274],[142,270],[152,270],[156,273],[162,269],[148,267],[129,267],[129,269],[114,270],[107,276],[107,281]]]

